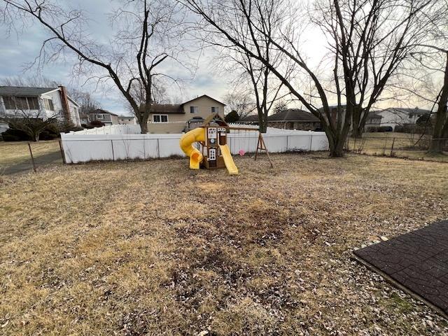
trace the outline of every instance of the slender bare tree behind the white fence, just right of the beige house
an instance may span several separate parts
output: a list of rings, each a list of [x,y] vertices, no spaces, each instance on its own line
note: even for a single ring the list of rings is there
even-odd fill
[[[269,66],[260,59],[252,57],[247,50],[257,45],[260,55],[272,66],[285,69],[286,76],[293,71],[294,66],[293,62],[290,62],[283,53],[278,52],[272,44],[272,38],[281,33],[281,21],[269,3],[270,1],[266,3],[259,1],[260,13],[254,13],[251,18],[262,31],[252,31],[253,34],[251,34],[251,23],[241,18],[235,17],[233,22],[228,21],[230,24],[228,29],[245,48],[235,48],[235,45],[228,43],[222,36],[209,34],[207,27],[202,27],[204,28],[202,39],[220,51],[217,58],[223,64],[223,70],[225,73],[234,75],[232,85],[241,87],[244,91],[248,90],[253,95],[255,111],[258,113],[258,125],[260,132],[263,133],[267,130],[269,111],[281,96],[283,83],[272,73]],[[220,6],[226,6],[226,4],[221,3]]]

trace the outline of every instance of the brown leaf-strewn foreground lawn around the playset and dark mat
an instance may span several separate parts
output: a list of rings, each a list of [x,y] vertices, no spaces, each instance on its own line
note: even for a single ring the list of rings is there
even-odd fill
[[[2,335],[446,335],[351,259],[448,218],[448,165],[327,153],[3,176]]]

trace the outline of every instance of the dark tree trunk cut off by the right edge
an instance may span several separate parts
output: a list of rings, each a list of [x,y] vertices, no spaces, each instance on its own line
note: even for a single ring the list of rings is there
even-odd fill
[[[428,153],[442,153],[443,146],[445,143],[444,137],[445,130],[448,129],[448,116],[447,116],[447,102],[448,102],[448,53],[447,53],[447,64],[445,66],[445,74],[443,80],[442,92],[440,93],[440,99],[437,106],[437,113],[435,115],[435,125],[433,131],[433,139],[431,139],[431,144]]]

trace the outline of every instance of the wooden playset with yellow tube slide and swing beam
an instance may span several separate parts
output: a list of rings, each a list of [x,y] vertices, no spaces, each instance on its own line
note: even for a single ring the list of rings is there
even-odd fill
[[[228,146],[228,134],[230,132],[251,131],[258,132],[258,130],[247,127],[230,127],[218,113],[211,114],[209,118],[204,120],[204,124],[200,127],[183,134],[180,146],[186,155],[190,157],[191,169],[221,169],[227,168],[229,174],[237,175],[238,168],[233,161],[230,147]],[[194,143],[199,143],[199,149],[193,146]],[[265,151],[271,167],[272,161],[269,157],[265,141],[260,132],[258,132],[258,143],[255,149],[255,160],[257,159],[258,151]],[[240,151],[244,155],[244,151]]]

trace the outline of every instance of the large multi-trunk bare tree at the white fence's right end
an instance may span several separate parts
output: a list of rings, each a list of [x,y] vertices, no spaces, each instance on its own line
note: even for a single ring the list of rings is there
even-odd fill
[[[333,80],[328,88],[325,87],[323,78],[318,78],[318,71],[311,69],[311,66],[307,64],[307,59],[300,50],[302,29],[298,26],[300,22],[297,23],[297,18],[303,15],[299,15],[300,12],[297,13],[297,6],[294,6],[293,2],[285,0],[228,0],[224,2],[216,0],[207,1],[207,3],[201,0],[181,1],[194,13],[200,15],[209,30],[223,36],[230,43],[229,48],[244,50],[247,55],[267,66],[288,88],[293,97],[321,120],[323,130],[328,137],[332,157],[343,155],[344,143],[351,129],[353,114],[360,116],[360,120],[364,120],[365,123],[370,106],[376,102],[386,86],[388,77],[398,65],[397,62],[389,62],[388,59],[390,57],[402,59],[402,50],[405,50],[403,47],[409,42],[406,39],[407,31],[411,27],[414,28],[418,22],[414,20],[416,14],[421,13],[423,8],[429,8],[433,3],[430,0],[316,1],[315,10],[321,13],[321,20],[329,20],[326,23],[314,20],[314,24],[327,31],[327,38],[332,48]],[[351,20],[348,21],[344,16],[347,12],[354,12],[349,16]],[[272,13],[272,15],[266,13]],[[379,23],[384,18],[381,15],[386,15],[385,20],[390,20],[383,21],[381,25],[384,28],[394,25],[394,29],[383,36],[378,36],[376,32],[379,29]],[[269,38],[269,43],[277,51],[286,55],[300,69],[302,75],[311,81],[321,108],[311,102],[311,99],[307,99],[309,97],[306,97],[300,87],[293,83],[287,71],[274,66],[271,60],[265,57],[260,47],[260,35],[269,36],[266,27],[269,27],[272,16],[281,22],[281,31],[280,34]],[[375,21],[374,24],[370,23],[372,20]],[[364,22],[363,25],[358,27],[358,21]],[[350,23],[348,27],[347,23]],[[252,36],[251,44],[241,41],[239,34],[235,33],[235,30],[238,31],[240,27],[247,27],[244,34]],[[398,38],[400,42],[388,46],[392,43],[388,39],[391,35],[395,36],[391,38],[391,41],[396,41]],[[354,43],[356,39],[362,43]],[[383,52],[374,48],[381,43],[386,43],[386,47],[381,49]],[[393,50],[393,52],[384,53],[384,50]],[[386,59],[387,62],[382,62],[379,65],[380,69],[377,69],[376,60],[381,58]],[[368,75],[372,73],[369,71],[370,68],[374,69],[372,78]],[[372,80],[375,83],[373,86]],[[367,93],[368,99],[365,98]],[[337,106],[334,108],[329,104],[332,98],[337,100]],[[366,100],[367,106],[362,106],[360,103]],[[359,126],[360,123],[357,123],[356,128]]]

